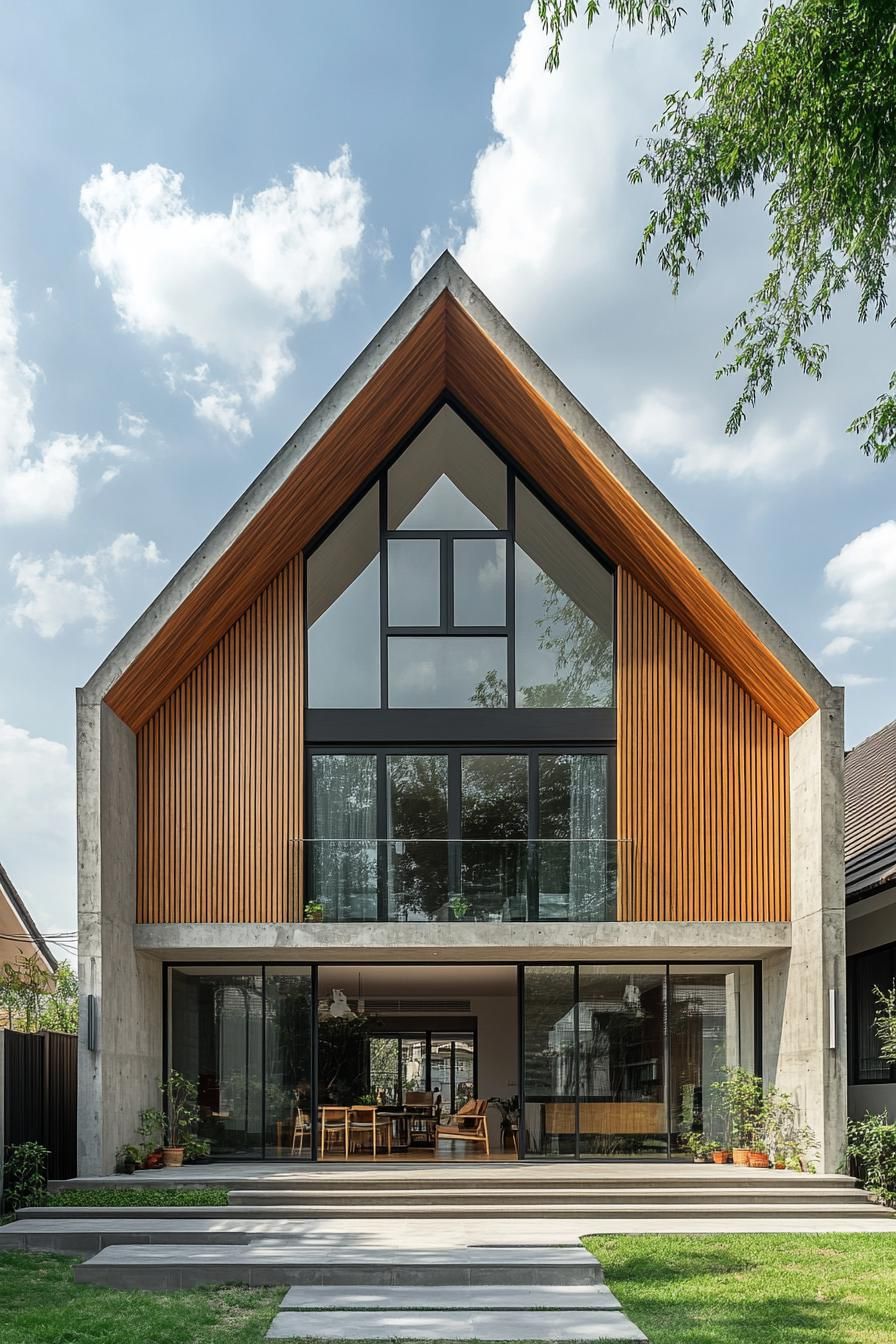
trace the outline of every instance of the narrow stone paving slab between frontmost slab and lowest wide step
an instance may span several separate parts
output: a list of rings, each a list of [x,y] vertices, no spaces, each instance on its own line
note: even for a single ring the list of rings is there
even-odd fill
[[[339,1300],[336,1300],[339,1298]],[[555,1284],[541,1288],[290,1288],[281,1310],[621,1310],[604,1284]]]

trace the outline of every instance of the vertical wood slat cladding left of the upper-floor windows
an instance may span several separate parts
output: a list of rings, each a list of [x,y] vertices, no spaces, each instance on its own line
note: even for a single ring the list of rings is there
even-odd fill
[[[137,921],[298,918],[302,562],[137,734]]]

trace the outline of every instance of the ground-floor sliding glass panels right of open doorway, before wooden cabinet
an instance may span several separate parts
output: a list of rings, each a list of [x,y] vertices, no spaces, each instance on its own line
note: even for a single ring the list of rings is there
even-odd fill
[[[524,966],[523,1154],[676,1157],[692,1132],[721,1138],[712,1085],[755,1067],[754,977],[752,964]]]

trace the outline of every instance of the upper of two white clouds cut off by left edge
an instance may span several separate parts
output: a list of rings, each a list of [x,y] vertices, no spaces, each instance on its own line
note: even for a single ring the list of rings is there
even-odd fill
[[[0,280],[0,523],[67,517],[78,499],[82,462],[125,452],[102,434],[55,434],[35,442],[39,375],[19,353],[13,289]]]

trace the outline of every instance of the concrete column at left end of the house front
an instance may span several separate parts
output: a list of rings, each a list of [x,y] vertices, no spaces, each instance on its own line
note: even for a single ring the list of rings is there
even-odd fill
[[[159,1105],[161,964],[134,950],[137,742],[78,691],[78,1173],[111,1172],[140,1111]],[[98,1009],[87,1048],[87,995]]]

